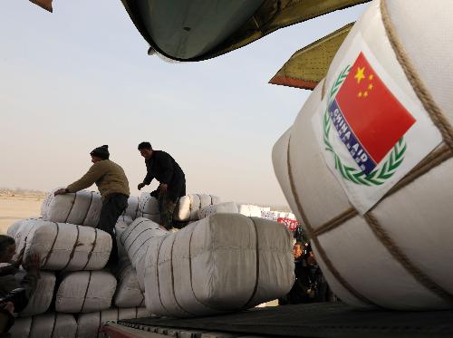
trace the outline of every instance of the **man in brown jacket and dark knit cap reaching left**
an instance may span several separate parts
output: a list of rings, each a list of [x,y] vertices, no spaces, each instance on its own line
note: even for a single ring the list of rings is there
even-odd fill
[[[109,146],[98,147],[92,150],[90,155],[92,155],[93,165],[82,179],[76,180],[66,188],[58,189],[55,195],[76,192],[96,183],[102,198],[101,217],[97,228],[111,235],[112,248],[109,263],[114,263],[118,258],[114,229],[118,217],[128,207],[129,181],[124,170],[109,159]]]

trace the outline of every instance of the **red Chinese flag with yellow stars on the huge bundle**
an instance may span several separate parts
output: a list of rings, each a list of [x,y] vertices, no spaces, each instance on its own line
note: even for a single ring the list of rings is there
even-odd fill
[[[361,146],[377,164],[415,123],[360,53],[335,100]]]

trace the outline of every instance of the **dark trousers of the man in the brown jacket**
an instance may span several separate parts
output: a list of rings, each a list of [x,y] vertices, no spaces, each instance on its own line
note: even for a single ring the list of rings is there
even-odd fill
[[[111,256],[108,265],[118,262],[118,246],[116,243],[115,224],[122,212],[128,208],[128,196],[123,194],[111,194],[102,201],[101,217],[98,229],[111,235]]]

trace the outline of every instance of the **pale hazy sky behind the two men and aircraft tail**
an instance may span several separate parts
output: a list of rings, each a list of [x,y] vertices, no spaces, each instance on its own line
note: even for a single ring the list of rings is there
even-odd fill
[[[28,0],[3,1],[0,187],[66,186],[89,169],[90,151],[108,144],[135,195],[145,176],[137,145],[149,140],[178,161],[188,193],[286,205],[271,150],[310,92],[267,82],[296,50],[364,8],[206,62],[165,63],[147,55],[120,0],[55,0],[53,14]]]

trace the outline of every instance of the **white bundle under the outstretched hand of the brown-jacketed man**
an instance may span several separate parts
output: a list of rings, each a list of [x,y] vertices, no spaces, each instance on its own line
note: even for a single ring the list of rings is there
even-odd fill
[[[102,200],[99,192],[82,190],[72,194],[53,195],[51,191],[43,201],[43,219],[97,227]]]

